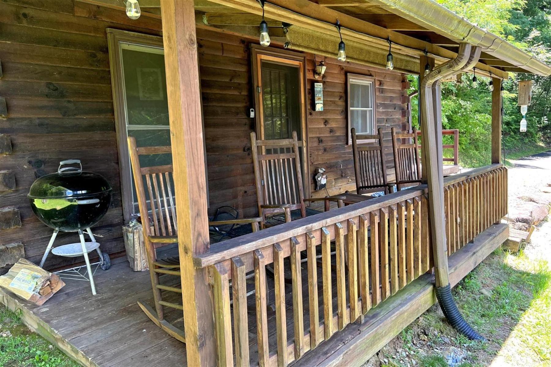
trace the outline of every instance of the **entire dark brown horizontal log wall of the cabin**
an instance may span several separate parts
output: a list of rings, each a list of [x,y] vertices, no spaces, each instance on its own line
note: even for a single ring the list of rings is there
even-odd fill
[[[68,158],[81,159],[86,170],[102,174],[111,183],[110,210],[94,233],[102,236],[103,250],[124,249],[106,28],[161,35],[160,19],[131,20],[119,10],[73,0],[0,3],[0,98],[5,98],[7,108],[7,118],[0,119],[0,134],[9,136],[11,144],[11,152],[0,156],[0,172],[15,177],[15,187],[0,192],[0,209],[17,207],[21,218],[21,228],[0,230],[0,244],[23,242],[26,257],[34,262],[44,253],[52,230],[34,216],[26,194],[37,177],[55,172],[59,161]],[[198,29],[197,34],[209,210],[231,205],[241,216],[256,215],[249,137],[255,123],[247,117],[253,107],[249,45],[255,40],[206,29]],[[377,78],[377,124],[388,131],[391,126],[407,129],[403,103],[407,83],[399,73],[326,59],[325,111],[315,112],[311,106],[311,89],[317,81],[314,55],[306,57],[310,172],[316,167],[327,169],[331,194],[354,190],[345,73]],[[386,144],[390,152],[390,140]],[[313,190],[311,174],[307,176]],[[325,196],[326,191],[312,195]],[[60,233],[57,243],[77,241],[77,235]],[[80,259],[51,255],[46,268],[74,261]]]

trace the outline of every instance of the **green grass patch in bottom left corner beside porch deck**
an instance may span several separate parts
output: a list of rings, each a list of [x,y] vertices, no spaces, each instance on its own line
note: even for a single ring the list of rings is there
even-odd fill
[[[0,366],[76,367],[78,364],[39,335],[30,332],[20,317],[0,306]]]

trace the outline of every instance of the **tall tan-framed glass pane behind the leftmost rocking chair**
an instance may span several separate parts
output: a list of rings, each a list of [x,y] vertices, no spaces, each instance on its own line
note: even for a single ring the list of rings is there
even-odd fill
[[[139,213],[127,137],[136,138],[138,147],[170,145],[163,39],[108,32],[122,206],[127,221]],[[140,163],[142,167],[170,165],[172,157],[141,155]]]

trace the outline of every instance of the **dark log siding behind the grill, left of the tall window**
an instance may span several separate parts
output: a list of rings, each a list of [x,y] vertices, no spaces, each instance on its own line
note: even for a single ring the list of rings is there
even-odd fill
[[[13,172],[16,182],[15,190],[0,193],[0,206],[17,207],[22,222],[1,231],[0,244],[23,242],[26,257],[36,263],[52,229],[36,218],[26,195],[37,177],[68,158],[82,160],[84,169],[112,185],[111,207],[93,231],[102,236],[102,250],[124,249],[106,28],[161,35],[160,19],[134,21],[124,12],[73,0],[0,3],[0,96],[8,108],[0,134],[9,135],[13,146],[13,154],[0,157],[0,169]],[[70,242],[78,236],[60,232],[56,239]],[[50,255],[45,267],[79,261]]]

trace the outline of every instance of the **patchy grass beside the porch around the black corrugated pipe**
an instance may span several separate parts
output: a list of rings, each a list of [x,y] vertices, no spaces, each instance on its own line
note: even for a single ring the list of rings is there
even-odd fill
[[[420,340],[426,341],[424,353],[414,354],[417,365],[447,367],[447,352],[435,347],[455,346],[467,351],[461,367],[489,365],[496,358],[511,365],[551,366],[551,270],[547,262],[498,249],[457,284],[453,297],[467,322],[489,342],[469,341],[457,333],[436,305],[400,335],[406,350],[415,350]]]

